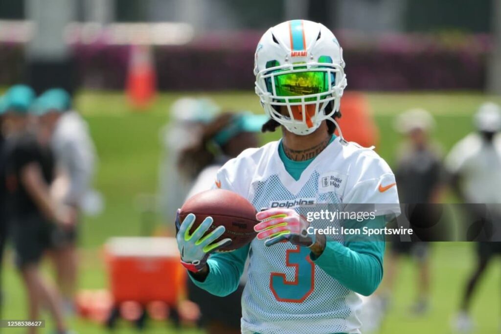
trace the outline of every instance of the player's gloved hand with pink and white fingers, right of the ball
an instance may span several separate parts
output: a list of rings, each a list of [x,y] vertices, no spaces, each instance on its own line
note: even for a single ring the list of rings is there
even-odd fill
[[[308,233],[310,223],[296,210],[274,208],[258,212],[256,219],[260,220],[254,230],[258,239],[264,240],[266,246],[271,246],[283,240],[310,247],[315,243],[315,234]]]

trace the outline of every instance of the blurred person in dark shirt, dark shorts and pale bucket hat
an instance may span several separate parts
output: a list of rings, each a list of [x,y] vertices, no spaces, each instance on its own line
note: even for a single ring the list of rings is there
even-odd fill
[[[395,130],[405,137],[399,147],[395,170],[400,203],[439,203],[442,197],[444,180],[441,154],[430,138],[434,127],[433,117],[423,109],[408,110],[396,118]],[[426,214],[428,209],[425,205],[421,210]],[[423,219],[426,219],[426,215]],[[380,293],[383,305],[387,307],[390,303],[402,257],[411,256],[417,266],[416,300],[411,306],[411,312],[423,314],[429,308],[430,299],[430,244],[403,242],[398,235],[390,240]]]

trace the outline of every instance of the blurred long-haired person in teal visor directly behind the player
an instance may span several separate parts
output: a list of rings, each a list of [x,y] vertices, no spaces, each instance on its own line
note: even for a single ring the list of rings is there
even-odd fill
[[[265,115],[224,112],[200,129],[199,141],[184,149],[179,156],[178,169],[196,175],[186,199],[218,187],[219,168],[247,148],[259,146],[257,132],[267,121]],[[240,333],[241,296],[246,274],[233,293],[218,297],[197,287],[187,278],[188,298],[200,308],[200,323],[210,334]]]

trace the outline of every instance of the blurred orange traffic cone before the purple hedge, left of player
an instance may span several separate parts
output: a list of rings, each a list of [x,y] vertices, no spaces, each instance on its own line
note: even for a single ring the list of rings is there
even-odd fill
[[[149,46],[131,47],[126,90],[129,102],[137,109],[147,108],[155,97],[156,77]]]

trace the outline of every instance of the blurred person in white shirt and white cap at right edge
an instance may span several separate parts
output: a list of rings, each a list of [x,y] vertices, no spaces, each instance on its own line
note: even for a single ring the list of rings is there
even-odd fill
[[[501,223],[501,108],[487,102],[480,106],[474,116],[476,132],[461,139],[450,151],[446,159],[447,171],[451,177],[451,187],[463,203],[467,205],[469,222],[482,222],[482,230]],[[486,205],[485,205],[486,204]],[[489,205],[490,204],[490,205]],[[496,205],[497,204],[497,205]],[[491,217],[485,220],[485,209]],[[457,331],[470,331],[473,320],[469,315],[473,292],[495,255],[501,255],[501,242],[478,242],[476,244],[476,266],[463,292],[459,313],[453,326]]]

